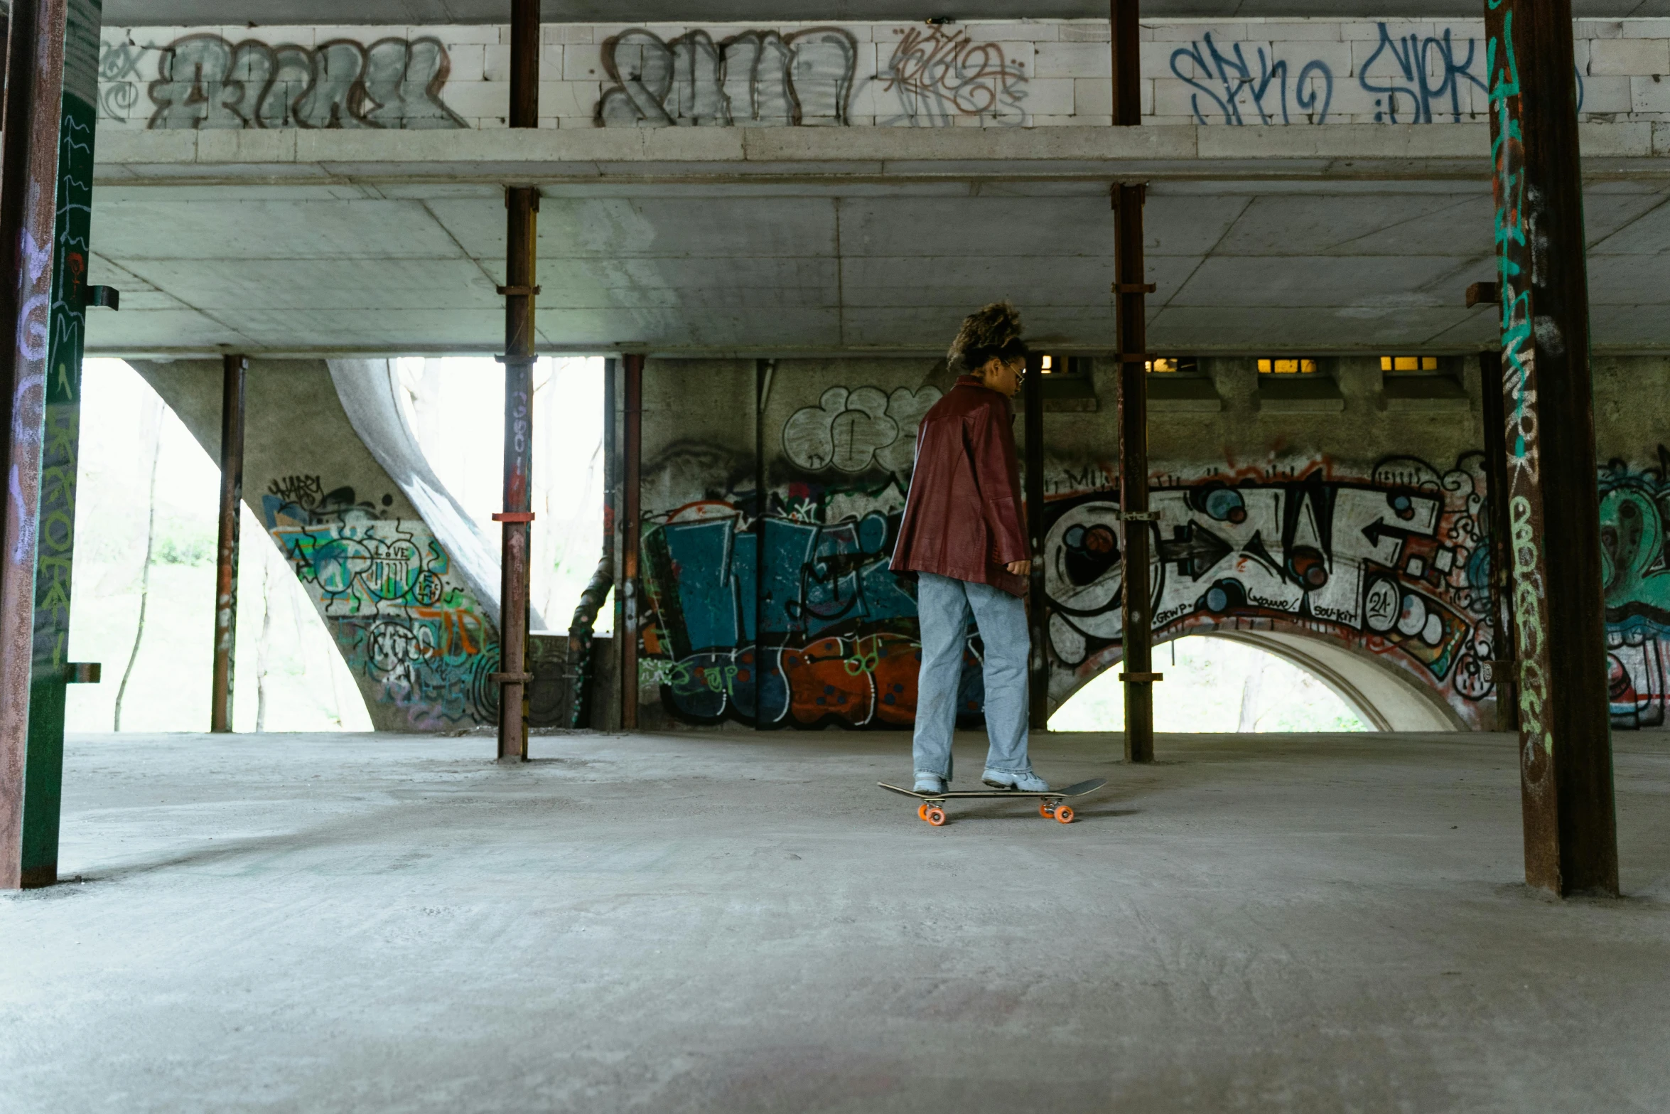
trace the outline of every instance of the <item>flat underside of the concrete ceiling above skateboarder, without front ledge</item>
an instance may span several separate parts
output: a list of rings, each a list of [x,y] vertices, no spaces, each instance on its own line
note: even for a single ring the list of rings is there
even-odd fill
[[[222,190],[224,194],[224,190]],[[245,197],[102,189],[102,352],[494,351],[504,207],[493,187]],[[1670,347],[1670,187],[1588,194],[1597,347]],[[1172,352],[1485,347],[1485,184],[1156,184],[1151,344]],[[939,351],[1010,297],[1039,341],[1106,349],[1114,252],[1097,185],[548,187],[544,351]]]

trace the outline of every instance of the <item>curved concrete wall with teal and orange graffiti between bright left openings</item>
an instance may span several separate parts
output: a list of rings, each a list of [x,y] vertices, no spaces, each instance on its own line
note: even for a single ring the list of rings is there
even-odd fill
[[[132,366],[219,459],[219,361]],[[357,423],[344,409],[339,384]],[[488,681],[499,663],[498,570],[484,580],[483,544],[463,509],[421,458],[402,456],[409,434],[399,439],[376,403],[379,389],[387,391],[381,361],[332,369],[324,361],[252,359],[244,504],[296,570],[377,730],[491,723],[498,718],[498,686]],[[379,434],[372,441],[392,471],[356,424]],[[448,533],[431,528],[428,514]],[[474,560],[459,561],[454,553]]]

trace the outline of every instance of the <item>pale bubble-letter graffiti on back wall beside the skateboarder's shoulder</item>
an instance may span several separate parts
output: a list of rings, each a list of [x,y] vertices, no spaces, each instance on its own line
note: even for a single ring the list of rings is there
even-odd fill
[[[783,423],[783,453],[805,471],[908,471],[917,426],[939,399],[939,387],[898,387],[892,394],[880,387],[830,387],[817,406]]]

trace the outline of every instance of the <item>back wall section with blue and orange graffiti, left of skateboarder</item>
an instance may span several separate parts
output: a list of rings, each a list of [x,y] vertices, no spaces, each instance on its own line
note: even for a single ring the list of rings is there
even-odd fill
[[[767,386],[748,361],[713,384],[713,408],[678,394],[685,366],[645,372],[641,703],[678,723],[910,727],[915,590],[887,565],[917,424],[942,387],[920,361],[865,361],[878,376],[853,386],[805,374],[808,361]],[[736,406],[762,389],[763,414]],[[676,434],[656,414],[676,414]],[[972,638],[970,717],[979,655]]]

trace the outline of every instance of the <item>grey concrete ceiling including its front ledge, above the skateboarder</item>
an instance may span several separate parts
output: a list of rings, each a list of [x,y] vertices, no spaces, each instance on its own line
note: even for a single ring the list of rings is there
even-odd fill
[[[1010,297],[1114,344],[1111,180],[1147,180],[1151,344],[1491,341],[1488,127],[135,132],[100,140],[89,351],[491,352],[504,182],[543,189],[544,351],[934,352]],[[1670,159],[1586,125],[1597,349],[1670,351]]]

